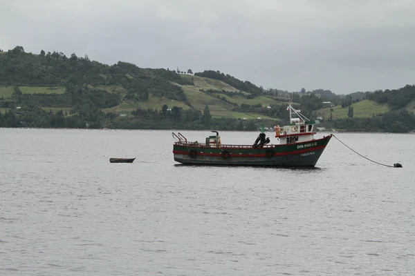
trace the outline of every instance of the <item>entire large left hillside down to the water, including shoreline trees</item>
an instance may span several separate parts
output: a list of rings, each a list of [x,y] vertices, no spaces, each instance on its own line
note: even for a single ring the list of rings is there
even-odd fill
[[[38,116],[61,116],[56,118],[57,125],[151,128],[157,122],[160,127],[205,128],[216,124],[221,128],[221,122],[210,121],[221,119],[228,120],[223,123],[226,128],[238,125],[246,129],[257,128],[262,122],[275,124],[280,119],[275,112],[277,106],[286,104],[273,97],[252,94],[261,89],[234,77],[225,81],[252,92],[210,77],[139,68],[121,61],[109,66],[86,56],[66,57],[62,52],[42,50],[35,55],[21,46],[2,52],[0,63],[0,112],[13,114],[10,121],[27,126],[39,122],[48,126],[48,120],[36,119]],[[164,126],[159,124],[160,120]],[[237,124],[235,120],[244,122]],[[255,123],[247,126],[249,120]]]

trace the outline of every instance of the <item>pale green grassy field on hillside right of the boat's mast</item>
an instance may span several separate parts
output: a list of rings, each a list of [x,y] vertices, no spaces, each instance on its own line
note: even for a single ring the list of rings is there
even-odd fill
[[[389,112],[390,108],[386,104],[379,104],[376,101],[369,101],[365,99],[358,103],[353,103],[353,118],[368,118],[373,117],[378,113]],[[342,108],[342,106],[333,107],[333,119],[344,119],[347,118],[347,112],[349,108]],[[316,111],[317,117],[323,117],[329,119],[330,108],[322,108]]]

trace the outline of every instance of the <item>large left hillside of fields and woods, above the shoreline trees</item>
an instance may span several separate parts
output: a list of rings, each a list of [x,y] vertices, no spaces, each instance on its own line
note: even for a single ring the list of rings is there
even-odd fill
[[[82,99],[73,99],[76,94],[74,92],[79,92],[80,95],[75,95],[77,97],[93,95],[96,91],[100,91],[101,95],[118,95],[118,101],[111,101],[117,104],[104,104],[100,107],[103,112],[127,116],[133,110],[161,110],[165,105],[168,108],[176,106],[182,110],[193,109],[199,112],[208,106],[213,118],[260,117],[275,120],[278,118],[266,112],[266,106],[283,103],[264,95],[251,95],[218,79],[177,74],[164,69],[143,69],[131,63],[119,62],[107,66],[89,61],[87,57],[71,55],[68,58],[57,52],[33,55],[19,47],[3,54],[2,61],[6,68],[0,71],[0,97],[9,101],[10,108],[22,105],[12,97],[15,86],[19,88],[21,97],[32,95],[33,97],[26,97],[26,101],[33,101],[33,104],[40,105],[44,110],[79,108],[75,102],[79,104]],[[19,72],[22,67],[30,69]],[[80,91],[82,89],[84,92]],[[207,90],[215,93],[203,92]],[[62,98],[68,94],[71,94],[71,103],[69,98]]]

